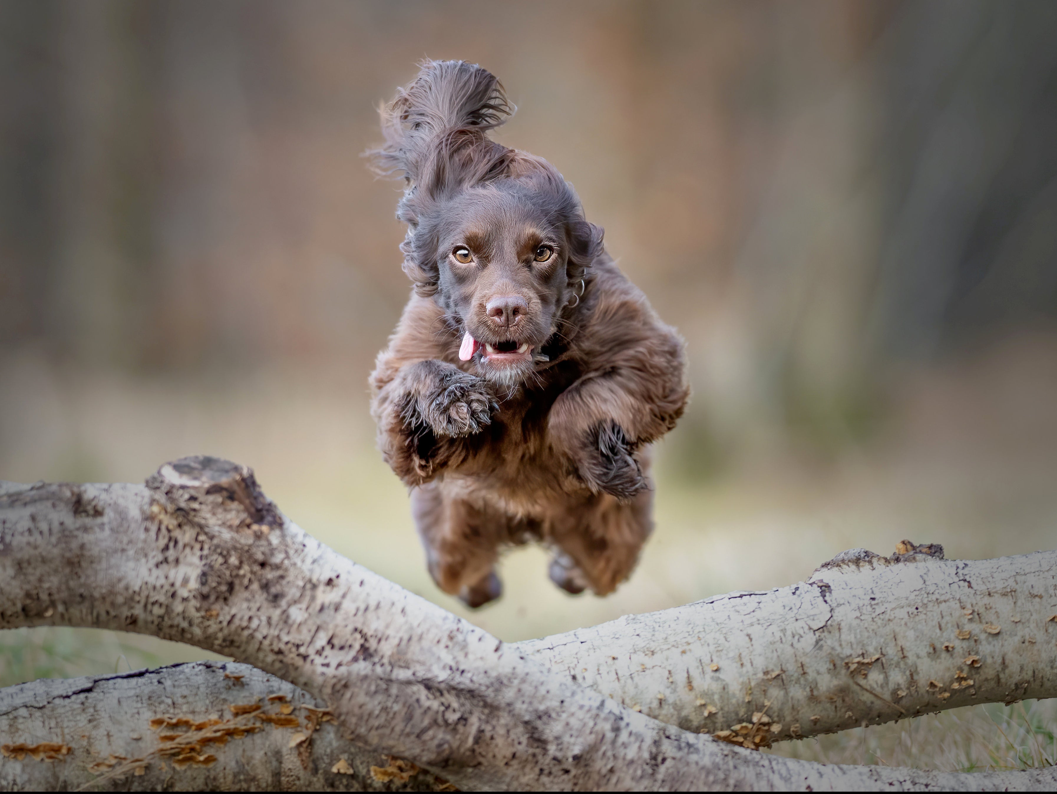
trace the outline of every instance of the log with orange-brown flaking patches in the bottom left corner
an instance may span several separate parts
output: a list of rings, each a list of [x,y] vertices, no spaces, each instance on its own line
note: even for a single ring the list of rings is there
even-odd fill
[[[452,788],[348,741],[324,703],[235,662],[10,686],[0,739],[0,791]]]

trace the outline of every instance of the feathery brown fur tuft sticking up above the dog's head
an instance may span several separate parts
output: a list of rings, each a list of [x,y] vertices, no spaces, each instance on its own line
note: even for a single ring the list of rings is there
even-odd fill
[[[502,176],[512,154],[486,133],[514,112],[503,86],[463,60],[426,60],[419,76],[384,107],[385,146],[368,151],[379,174],[402,174],[408,189],[437,198]],[[415,223],[413,206],[402,219]]]

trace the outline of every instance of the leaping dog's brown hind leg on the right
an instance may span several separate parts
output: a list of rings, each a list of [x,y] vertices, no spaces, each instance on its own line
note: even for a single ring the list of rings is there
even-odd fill
[[[550,540],[559,551],[551,580],[574,594],[586,588],[596,595],[613,592],[631,574],[653,530],[652,496],[644,491],[624,502],[604,494],[556,517]]]

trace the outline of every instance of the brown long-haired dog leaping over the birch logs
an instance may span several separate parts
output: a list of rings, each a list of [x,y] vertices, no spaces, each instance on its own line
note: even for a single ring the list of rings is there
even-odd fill
[[[414,282],[371,374],[386,462],[411,486],[429,572],[478,607],[506,544],[605,595],[652,530],[648,444],[688,388],[682,339],[606,254],[550,163],[487,136],[513,108],[463,61],[426,61],[383,110],[379,172]]]

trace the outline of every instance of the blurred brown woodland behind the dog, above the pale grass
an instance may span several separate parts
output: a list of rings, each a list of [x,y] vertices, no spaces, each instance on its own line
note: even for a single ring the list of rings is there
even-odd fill
[[[1057,314],[1055,37],[1044,0],[10,0],[0,340],[366,377],[407,283],[358,153],[462,57],[687,336],[687,448],[839,442],[893,365]]]

